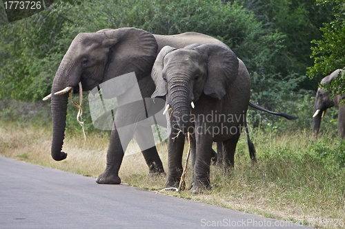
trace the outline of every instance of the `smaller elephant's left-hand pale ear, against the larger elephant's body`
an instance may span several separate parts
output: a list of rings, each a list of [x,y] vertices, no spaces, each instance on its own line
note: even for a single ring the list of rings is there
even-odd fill
[[[151,77],[153,82],[155,82],[156,90],[153,92],[151,98],[165,96],[168,93],[168,88],[166,85],[166,81],[163,79],[162,73],[164,68],[164,57],[169,52],[176,50],[175,47],[164,46],[159,52],[155,64],[152,67]]]

